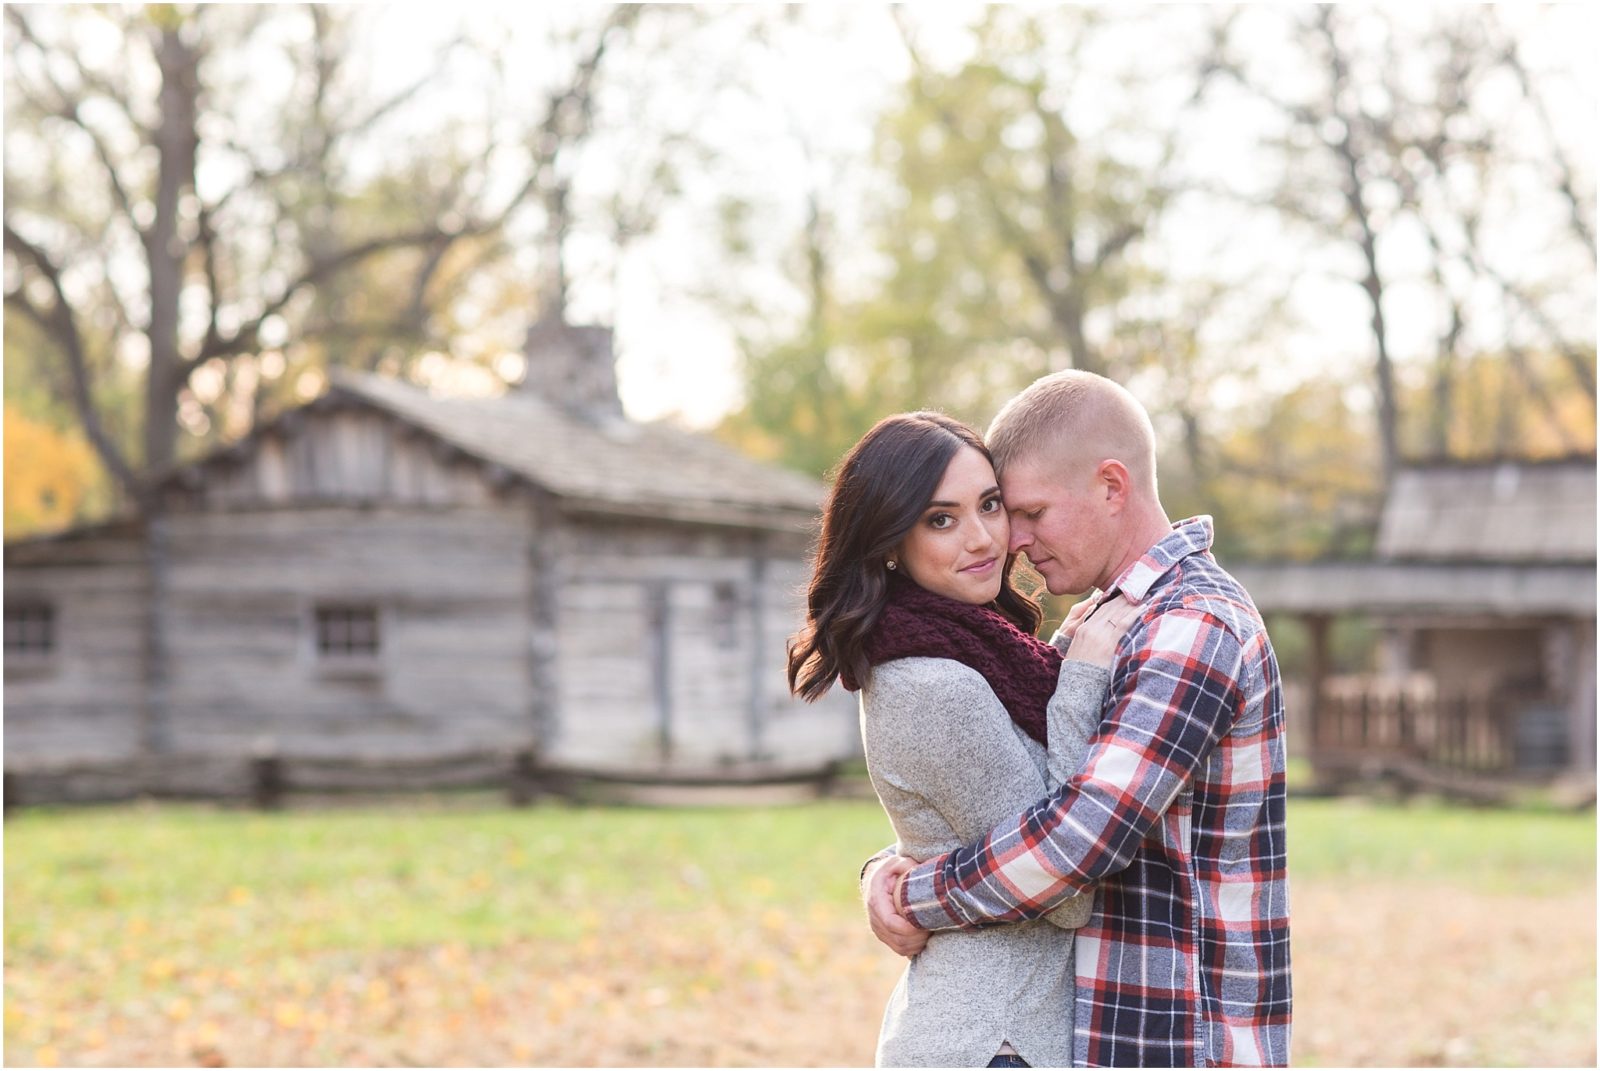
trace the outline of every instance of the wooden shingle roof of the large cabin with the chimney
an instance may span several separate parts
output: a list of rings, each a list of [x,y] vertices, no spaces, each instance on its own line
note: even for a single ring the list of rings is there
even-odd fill
[[[824,488],[706,435],[626,419],[590,423],[538,395],[440,397],[386,376],[336,371],[328,394],[437,435],[563,499],[568,509],[794,528]]]

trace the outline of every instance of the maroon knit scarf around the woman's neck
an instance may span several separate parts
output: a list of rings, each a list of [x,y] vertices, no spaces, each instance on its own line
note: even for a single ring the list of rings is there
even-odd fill
[[[1045,706],[1056,690],[1061,652],[995,610],[891,576],[883,616],[867,637],[866,655],[872,666],[894,658],[954,658],[984,676],[1022,732],[1048,744]],[[848,674],[842,682],[851,692],[861,687]]]

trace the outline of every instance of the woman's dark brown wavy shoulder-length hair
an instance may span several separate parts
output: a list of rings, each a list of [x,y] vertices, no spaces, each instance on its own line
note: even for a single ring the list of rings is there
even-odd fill
[[[898,413],[880,419],[838,463],[813,551],[805,624],[789,637],[789,690],[802,700],[822,698],[840,674],[859,682],[870,676],[866,642],[888,596],[885,562],[962,447],[989,458],[984,440],[958,419]],[[1000,596],[989,608],[1034,632],[1038,604],[1011,586],[1011,565],[1006,557]]]

